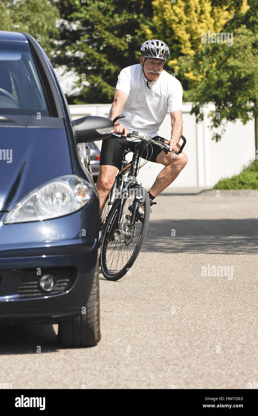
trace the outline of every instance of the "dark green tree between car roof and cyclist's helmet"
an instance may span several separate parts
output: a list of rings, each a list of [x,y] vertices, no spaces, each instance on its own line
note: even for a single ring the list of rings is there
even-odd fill
[[[151,3],[128,0],[121,7],[120,0],[60,0],[58,7],[61,42],[54,63],[80,77],[81,92],[67,97],[69,103],[111,102],[120,70],[139,62],[146,25],[151,25]]]

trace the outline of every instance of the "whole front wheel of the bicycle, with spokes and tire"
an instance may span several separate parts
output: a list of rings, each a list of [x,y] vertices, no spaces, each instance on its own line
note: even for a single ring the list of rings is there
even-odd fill
[[[140,220],[136,214],[133,220],[133,207],[137,200],[144,205],[144,217]],[[123,213],[120,220],[120,232],[116,233],[118,198],[111,208],[103,228],[100,264],[103,276],[107,280],[118,280],[123,277],[135,262],[143,245],[150,219],[150,198],[140,185],[128,188]]]

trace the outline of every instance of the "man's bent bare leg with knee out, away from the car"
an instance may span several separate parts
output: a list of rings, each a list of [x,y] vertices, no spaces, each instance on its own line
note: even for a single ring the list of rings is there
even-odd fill
[[[174,158],[171,157],[174,156]],[[156,159],[157,163],[162,163],[165,168],[158,174],[149,192],[154,196],[158,196],[166,189],[179,175],[184,166],[187,164],[187,156],[184,153],[176,155],[175,153],[160,152]]]

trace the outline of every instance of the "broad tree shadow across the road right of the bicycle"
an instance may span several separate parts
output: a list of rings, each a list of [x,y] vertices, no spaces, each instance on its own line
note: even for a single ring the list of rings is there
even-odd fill
[[[173,231],[174,230],[174,231]],[[258,219],[150,220],[143,252],[256,254]],[[175,233],[174,236],[172,234]]]

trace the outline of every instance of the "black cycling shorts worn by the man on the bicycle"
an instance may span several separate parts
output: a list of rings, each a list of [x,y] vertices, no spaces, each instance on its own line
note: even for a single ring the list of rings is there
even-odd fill
[[[102,142],[99,164],[111,165],[119,169],[123,159],[123,151],[125,150],[125,147],[130,147],[130,149],[134,151],[137,144],[139,144],[139,141],[125,140],[122,137],[112,134],[109,139],[103,140]],[[146,144],[144,141],[142,141],[139,145],[139,150],[140,157],[155,163],[157,163],[157,155],[162,152],[162,149],[157,144]]]

